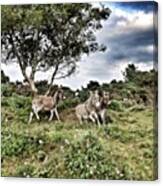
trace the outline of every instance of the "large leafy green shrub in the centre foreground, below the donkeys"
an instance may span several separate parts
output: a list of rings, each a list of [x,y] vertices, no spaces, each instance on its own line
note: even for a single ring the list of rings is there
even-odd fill
[[[92,134],[72,144],[65,165],[72,178],[100,178],[105,173],[104,151]]]

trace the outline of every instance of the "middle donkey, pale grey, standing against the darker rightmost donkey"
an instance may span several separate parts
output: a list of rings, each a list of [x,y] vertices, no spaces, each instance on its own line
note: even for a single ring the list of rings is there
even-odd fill
[[[90,119],[93,123],[97,121],[100,125],[96,109],[100,106],[100,97],[98,91],[90,91],[90,97],[82,104],[79,104],[75,108],[76,116],[79,123],[82,124],[83,120]]]

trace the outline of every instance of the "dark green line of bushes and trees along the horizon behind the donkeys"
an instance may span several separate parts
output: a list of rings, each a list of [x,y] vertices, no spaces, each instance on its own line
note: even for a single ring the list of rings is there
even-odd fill
[[[68,99],[74,99],[75,96],[84,101],[89,96],[90,90],[108,91],[111,99],[116,100],[134,100],[136,103],[144,103],[146,105],[153,104],[153,100],[157,99],[157,71],[140,71],[135,65],[129,64],[123,72],[124,81],[112,80],[110,83],[99,84],[97,81],[90,81],[87,86],[81,90],[73,91],[71,88],[63,86],[65,96]],[[25,82],[10,82],[1,70],[2,96],[12,96],[17,93],[24,96],[30,96],[30,88]],[[44,94],[48,89],[46,80],[37,81],[36,87],[39,94]],[[52,92],[55,92],[57,85],[53,85]]]

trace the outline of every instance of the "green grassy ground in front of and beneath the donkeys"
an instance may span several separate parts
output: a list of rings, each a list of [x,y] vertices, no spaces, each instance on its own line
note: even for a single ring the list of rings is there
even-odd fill
[[[2,108],[2,176],[155,179],[152,108],[117,111],[114,103],[114,109],[108,110],[112,123],[98,128],[91,123],[79,125],[73,109],[61,112],[62,122],[35,120],[29,125],[28,112],[17,105],[12,108],[13,102],[7,104]],[[21,115],[16,115],[19,109]],[[92,139],[94,145],[86,148],[83,144]],[[89,161],[88,168],[84,158],[89,153],[95,160]]]

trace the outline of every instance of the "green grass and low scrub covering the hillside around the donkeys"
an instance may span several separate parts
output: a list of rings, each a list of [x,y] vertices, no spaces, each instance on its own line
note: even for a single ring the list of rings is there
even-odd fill
[[[63,87],[67,98],[58,108],[62,122],[48,122],[49,113],[44,113],[41,121],[34,119],[30,125],[31,97],[15,93],[17,85],[2,84],[2,92],[8,90],[2,95],[2,176],[156,179],[153,73],[148,72],[143,86],[131,80],[90,83],[92,89],[97,85],[111,92],[108,122],[101,128],[89,122],[79,125],[75,117],[74,107],[87,98],[90,84],[78,97]]]

